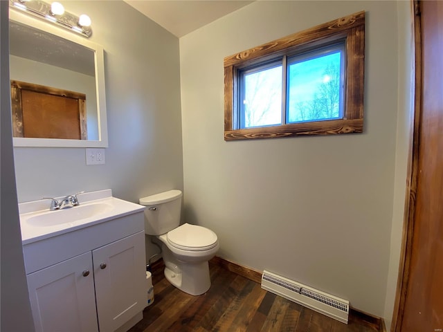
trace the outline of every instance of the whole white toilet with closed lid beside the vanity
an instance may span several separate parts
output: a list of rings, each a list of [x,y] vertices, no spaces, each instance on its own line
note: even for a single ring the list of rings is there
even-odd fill
[[[210,288],[208,261],[219,250],[217,234],[199,225],[183,223],[180,190],[169,190],[139,200],[145,205],[145,233],[162,243],[165,277],[190,295]]]

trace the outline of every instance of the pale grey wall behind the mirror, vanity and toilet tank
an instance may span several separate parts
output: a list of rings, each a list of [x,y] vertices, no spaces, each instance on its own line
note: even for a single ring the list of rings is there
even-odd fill
[[[15,147],[19,202],[111,188],[138,203],[183,189],[179,39],[123,1],[63,5],[91,17],[90,40],[105,50],[106,164],[87,166],[82,148]]]

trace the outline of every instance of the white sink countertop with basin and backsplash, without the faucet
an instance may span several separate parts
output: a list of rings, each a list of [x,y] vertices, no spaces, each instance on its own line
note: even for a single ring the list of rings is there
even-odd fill
[[[22,244],[48,239],[145,210],[142,205],[117,199],[112,196],[111,190],[78,194],[78,201],[80,205],[54,211],[49,210],[51,202],[47,199],[19,203]]]

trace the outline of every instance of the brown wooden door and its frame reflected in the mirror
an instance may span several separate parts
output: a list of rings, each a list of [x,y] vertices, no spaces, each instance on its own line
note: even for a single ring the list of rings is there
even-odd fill
[[[11,81],[15,137],[87,140],[86,95]]]

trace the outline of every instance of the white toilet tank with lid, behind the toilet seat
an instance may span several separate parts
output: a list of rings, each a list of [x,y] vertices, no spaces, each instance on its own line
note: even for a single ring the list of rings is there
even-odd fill
[[[145,205],[145,233],[161,235],[179,227],[181,214],[181,191],[169,190],[139,200]]]

